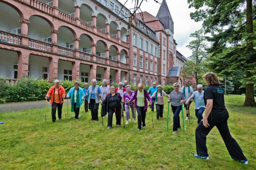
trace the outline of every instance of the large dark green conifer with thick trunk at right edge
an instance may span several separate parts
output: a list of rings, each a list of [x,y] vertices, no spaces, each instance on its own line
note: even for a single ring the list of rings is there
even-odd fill
[[[243,106],[255,107],[255,0],[188,0],[188,3],[189,8],[196,9],[190,14],[191,19],[203,21],[205,33],[211,33],[207,40],[212,45],[207,51],[212,53],[211,62],[216,65],[215,70],[225,74],[244,72],[245,77],[241,80],[246,87]]]

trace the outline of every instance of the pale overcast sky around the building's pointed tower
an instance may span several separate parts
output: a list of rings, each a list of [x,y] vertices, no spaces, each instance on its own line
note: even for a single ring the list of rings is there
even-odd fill
[[[156,16],[160,4],[154,2],[153,0],[144,1],[141,6],[142,11],[147,11],[148,13]],[[162,0],[157,0],[162,3]],[[126,0],[119,0],[122,4]],[[201,22],[195,22],[190,19],[190,12],[195,11],[194,9],[188,8],[187,0],[166,0],[170,14],[174,22],[174,39],[177,42],[177,50],[183,54],[185,57],[189,57],[192,52],[186,47],[188,43],[192,40],[189,36],[191,33],[194,33],[196,30],[199,30],[202,27]],[[132,0],[128,0],[125,7],[128,9],[132,8]],[[132,10],[131,10],[132,11]]]

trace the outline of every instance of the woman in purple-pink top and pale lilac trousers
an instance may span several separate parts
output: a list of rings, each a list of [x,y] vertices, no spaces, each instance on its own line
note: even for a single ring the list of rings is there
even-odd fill
[[[132,118],[134,119],[134,123],[136,123],[136,117],[135,117],[135,112],[134,112],[134,108],[133,108],[133,104],[128,102],[128,100],[131,100],[131,98],[134,95],[134,91],[131,90],[131,86],[130,85],[126,85],[125,87],[126,91],[123,93],[123,99],[124,99],[124,104],[125,104],[125,117],[126,117],[126,125],[129,124],[129,119],[130,119],[130,109],[129,109],[129,105],[130,108],[132,110]]]

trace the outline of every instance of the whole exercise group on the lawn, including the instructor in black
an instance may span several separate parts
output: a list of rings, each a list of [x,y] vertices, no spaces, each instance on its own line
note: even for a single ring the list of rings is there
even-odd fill
[[[164,99],[166,96],[169,98],[168,103],[171,102],[171,109],[173,112],[173,133],[177,133],[180,128],[180,111],[182,110],[182,104],[186,109],[186,120],[189,119],[189,106],[194,99],[195,101],[195,115],[197,117],[196,128],[196,151],[197,154],[193,154],[196,158],[209,159],[206,136],[211,129],[216,126],[221,134],[222,139],[228,149],[231,159],[238,160],[244,164],[248,164],[246,157],[244,156],[242,149],[231,136],[228,129],[228,111],[225,108],[224,93],[220,87],[220,82],[216,74],[206,73],[204,75],[204,81],[207,84],[205,91],[201,84],[197,85],[197,91],[193,91],[193,88],[189,86],[189,81],[184,81],[184,86],[174,83],[174,90],[167,95],[161,85],[156,86],[156,82],[153,83],[153,87],[148,90],[144,90],[143,85],[139,83],[137,90],[132,91],[131,86],[127,84],[127,81],[118,84],[119,87],[115,88],[110,84],[110,81],[103,80],[103,85],[98,86],[96,79],[92,79],[92,85],[88,87],[88,83],[84,84],[84,88],[79,87],[79,82],[75,82],[75,87],[72,87],[68,94],[62,86],[59,85],[59,81],[54,81],[54,86],[51,87],[46,95],[46,99],[51,96],[50,103],[52,105],[52,122],[56,121],[56,109],[58,109],[58,118],[61,119],[61,110],[63,105],[63,99],[71,98],[71,111],[75,112],[75,119],[78,119],[79,108],[84,101],[85,112],[91,110],[91,120],[98,121],[98,109],[99,104],[101,106],[101,116],[108,117],[107,129],[112,128],[113,114],[116,115],[116,125],[121,125],[121,118],[125,111],[126,124],[129,123],[130,110],[132,112],[132,118],[136,123],[136,111],[138,128],[146,127],[145,118],[146,112],[151,107],[152,113],[154,112],[154,105],[156,105],[156,119],[163,117]],[[205,114],[203,116],[203,112]],[[107,114],[108,113],[108,114]]]

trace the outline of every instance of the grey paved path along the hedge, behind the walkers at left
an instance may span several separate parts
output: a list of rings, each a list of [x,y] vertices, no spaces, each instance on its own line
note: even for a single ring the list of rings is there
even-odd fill
[[[66,105],[67,100],[65,99],[64,104]],[[68,100],[70,105],[70,100]],[[50,102],[47,101],[47,107],[51,107]],[[0,104],[0,112],[19,111],[27,109],[45,108],[45,100],[30,101],[30,102],[15,102]]]

